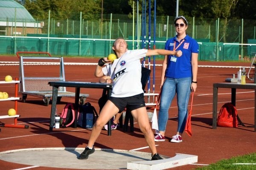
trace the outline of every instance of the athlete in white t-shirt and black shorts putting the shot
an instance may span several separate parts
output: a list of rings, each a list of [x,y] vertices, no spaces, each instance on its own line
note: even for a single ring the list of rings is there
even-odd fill
[[[109,75],[113,80],[113,89],[111,97],[108,99],[99,117],[93,125],[92,132],[87,146],[80,154],[78,159],[87,159],[95,149],[94,142],[98,138],[102,127],[118,112],[123,111],[124,108],[129,108],[134,119],[137,119],[140,130],[145,136],[148,147],[151,150],[151,160],[162,159],[157,153],[154,142],[154,133],[151,130],[148,121],[148,114],[145,107],[144,92],[141,85],[141,63],[140,59],[145,56],[153,55],[175,55],[180,57],[181,51],[169,51],[163,49],[140,49],[128,50],[127,43],[124,39],[118,38],[113,42],[113,51],[117,59],[110,62],[106,57],[99,59],[99,63],[95,70],[96,77]],[[105,65],[105,63],[111,63]]]

